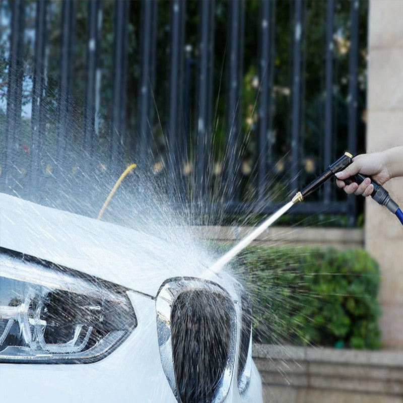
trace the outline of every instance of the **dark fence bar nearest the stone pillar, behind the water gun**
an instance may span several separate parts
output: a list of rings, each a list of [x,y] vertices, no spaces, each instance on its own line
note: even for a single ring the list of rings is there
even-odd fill
[[[349,54],[349,94],[348,94],[348,148],[357,153],[357,107],[358,107],[358,17],[359,1],[353,0],[350,6],[350,54]],[[356,197],[348,198],[349,225],[355,224],[357,215]]]

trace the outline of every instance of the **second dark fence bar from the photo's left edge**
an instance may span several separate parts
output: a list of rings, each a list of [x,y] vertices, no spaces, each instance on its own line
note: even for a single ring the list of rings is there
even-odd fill
[[[48,1],[36,2],[34,74],[31,111],[31,164],[30,175],[33,189],[39,184],[41,157],[45,137],[45,47],[47,37],[46,10]]]

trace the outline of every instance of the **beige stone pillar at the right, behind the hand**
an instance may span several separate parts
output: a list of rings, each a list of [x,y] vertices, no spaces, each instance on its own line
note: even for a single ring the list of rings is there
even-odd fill
[[[403,1],[370,0],[369,13],[367,151],[373,152],[403,145]],[[403,206],[403,178],[385,187]],[[382,273],[383,345],[403,349],[403,231],[372,200],[365,220],[365,247]]]

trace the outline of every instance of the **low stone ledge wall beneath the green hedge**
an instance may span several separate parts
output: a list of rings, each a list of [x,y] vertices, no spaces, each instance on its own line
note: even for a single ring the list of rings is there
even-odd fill
[[[267,403],[403,403],[403,352],[253,345]]]

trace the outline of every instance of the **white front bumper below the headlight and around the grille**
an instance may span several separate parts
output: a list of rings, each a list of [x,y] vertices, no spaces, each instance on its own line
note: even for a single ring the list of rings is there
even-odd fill
[[[138,326],[113,353],[90,364],[0,364],[0,401],[176,403],[159,353],[155,301],[128,292]],[[261,381],[252,363],[247,389],[236,376],[223,403],[262,402]]]

